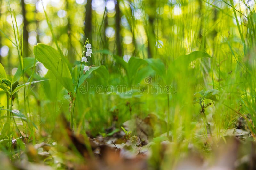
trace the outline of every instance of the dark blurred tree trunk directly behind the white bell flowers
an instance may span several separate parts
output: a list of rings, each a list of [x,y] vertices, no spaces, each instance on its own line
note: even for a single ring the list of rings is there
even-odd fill
[[[92,0],[87,0],[85,6],[85,26],[84,26],[84,42],[88,38],[90,43],[92,44]],[[92,58],[87,57],[88,63],[92,65]]]

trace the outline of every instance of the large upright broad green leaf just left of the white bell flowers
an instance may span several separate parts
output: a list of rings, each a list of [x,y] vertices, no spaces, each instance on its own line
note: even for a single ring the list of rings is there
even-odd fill
[[[57,50],[51,46],[37,44],[34,47],[34,55],[36,59],[43,63],[44,66],[51,70],[60,83],[71,92],[73,89],[72,77],[65,61],[61,59]]]

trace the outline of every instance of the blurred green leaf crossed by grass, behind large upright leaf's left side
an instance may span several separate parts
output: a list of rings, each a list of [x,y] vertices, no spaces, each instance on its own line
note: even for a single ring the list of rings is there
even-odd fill
[[[34,67],[36,64],[36,59],[35,58],[32,58],[32,57],[26,57],[24,58],[24,73],[26,71],[28,71],[28,69]],[[22,76],[22,69],[21,69],[21,66],[19,65],[18,66],[18,69],[13,77],[13,80],[12,82],[15,82],[15,81],[19,81],[19,79],[21,78]]]

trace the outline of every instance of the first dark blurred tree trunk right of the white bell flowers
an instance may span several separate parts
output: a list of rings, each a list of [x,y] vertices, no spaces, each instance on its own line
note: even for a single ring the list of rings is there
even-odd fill
[[[116,48],[117,48],[117,55],[123,57],[123,50],[122,50],[122,36],[121,36],[121,11],[119,8],[119,3],[116,1],[115,5],[116,15]]]

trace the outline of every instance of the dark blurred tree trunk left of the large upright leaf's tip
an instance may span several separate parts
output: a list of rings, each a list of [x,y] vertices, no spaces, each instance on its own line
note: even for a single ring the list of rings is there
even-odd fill
[[[22,15],[23,15],[23,49],[24,49],[24,57],[28,57],[29,51],[28,51],[28,21],[26,19],[26,8],[25,8],[25,2],[24,0],[21,0],[21,8],[22,8]]]

